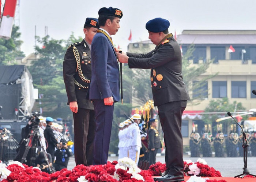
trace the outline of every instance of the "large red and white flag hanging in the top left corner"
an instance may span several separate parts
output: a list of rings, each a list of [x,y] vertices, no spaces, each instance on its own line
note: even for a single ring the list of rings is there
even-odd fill
[[[2,22],[0,25],[0,37],[10,39],[17,0],[5,0]]]

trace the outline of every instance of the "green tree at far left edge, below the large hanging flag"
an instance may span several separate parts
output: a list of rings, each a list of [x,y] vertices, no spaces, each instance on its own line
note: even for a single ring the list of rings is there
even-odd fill
[[[19,27],[14,25],[10,39],[5,40],[0,38],[0,66],[15,64],[15,58],[25,57],[24,52],[20,51],[23,41],[20,40],[21,33],[18,31]]]

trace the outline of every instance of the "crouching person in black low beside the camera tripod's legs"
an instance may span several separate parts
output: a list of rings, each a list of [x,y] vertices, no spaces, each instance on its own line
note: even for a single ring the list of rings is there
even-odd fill
[[[47,153],[46,155],[47,155],[47,158],[49,161],[49,165],[50,165],[50,167],[52,167],[52,156],[49,153]],[[38,156],[35,158],[35,164],[37,167],[39,167],[41,169],[41,171],[44,171],[49,174],[54,172],[53,169],[49,170],[49,165],[47,164],[47,161],[44,157],[44,153],[42,153],[42,152],[39,152]]]

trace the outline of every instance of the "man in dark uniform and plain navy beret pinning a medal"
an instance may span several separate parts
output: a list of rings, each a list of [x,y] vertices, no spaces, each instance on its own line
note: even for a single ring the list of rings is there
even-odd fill
[[[117,53],[118,60],[128,63],[129,68],[151,69],[151,87],[164,133],[167,167],[166,173],[155,181],[163,182],[184,181],[181,116],[190,100],[182,79],[180,46],[168,32],[169,26],[169,21],[162,18],[147,22],[148,38],[156,45],[153,51],[147,54]]]

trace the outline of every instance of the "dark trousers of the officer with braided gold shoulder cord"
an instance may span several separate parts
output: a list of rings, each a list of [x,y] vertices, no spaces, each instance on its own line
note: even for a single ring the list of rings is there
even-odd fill
[[[93,142],[96,124],[94,122],[94,111],[78,108],[74,113],[74,153],[76,165],[93,164]]]

